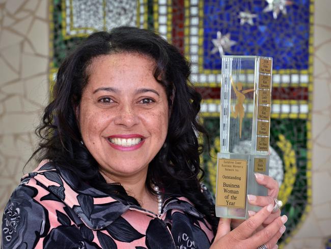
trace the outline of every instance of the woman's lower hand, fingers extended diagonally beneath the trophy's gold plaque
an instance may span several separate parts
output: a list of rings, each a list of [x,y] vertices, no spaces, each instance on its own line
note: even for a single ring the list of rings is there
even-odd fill
[[[254,233],[268,219],[272,209],[273,205],[269,204],[232,231],[230,231],[231,219],[221,218],[210,248],[256,249],[262,244],[268,249],[278,248],[276,243],[285,231],[284,223],[287,221],[285,215],[275,218],[265,228]]]

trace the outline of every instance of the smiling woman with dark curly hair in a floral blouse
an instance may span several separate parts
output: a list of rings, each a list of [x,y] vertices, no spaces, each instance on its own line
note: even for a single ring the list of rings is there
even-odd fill
[[[270,196],[250,196],[264,208],[231,232],[214,216],[189,73],[147,30],[95,33],[76,48],[38,129],[41,163],[6,206],[3,248],[277,248],[286,217],[271,213],[271,178],[257,179]]]

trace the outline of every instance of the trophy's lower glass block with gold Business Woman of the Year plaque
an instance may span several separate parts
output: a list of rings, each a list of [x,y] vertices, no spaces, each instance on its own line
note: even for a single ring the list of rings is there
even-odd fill
[[[257,183],[254,173],[268,175],[268,155],[217,154],[217,217],[247,219],[249,210],[257,212],[261,209],[250,205],[247,200],[247,194],[267,195],[267,188]]]

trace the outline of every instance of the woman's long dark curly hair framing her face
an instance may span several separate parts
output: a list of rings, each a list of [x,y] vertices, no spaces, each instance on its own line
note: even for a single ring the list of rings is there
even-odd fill
[[[205,214],[216,230],[214,206],[202,193],[200,181],[204,171],[200,166],[203,147],[198,134],[206,135],[198,120],[201,95],[188,85],[190,67],[178,49],[152,31],[133,27],[119,27],[111,32],[97,32],[63,61],[36,133],[41,138],[34,152],[38,160],[52,160],[58,167],[74,172],[82,181],[121,200],[139,205],[120,184],[107,184],[99,173],[98,163],[85,146],[75,115],[82,91],[88,84],[92,60],[115,53],[138,53],[155,61],[154,78],[168,97],[171,116],[166,142],[150,162],[147,189],[155,194],[152,184],[166,191],[166,195],[181,194]],[[208,137],[208,136],[207,136]]]

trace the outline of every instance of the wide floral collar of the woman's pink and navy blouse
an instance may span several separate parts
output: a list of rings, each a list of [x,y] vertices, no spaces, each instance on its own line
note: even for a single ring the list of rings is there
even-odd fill
[[[79,181],[70,170],[56,167],[51,161],[42,161],[33,172],[23,176],[22,184],[29,182],[32,178],[43,184],[49,192],[65,203],[69,210],[73,210],[90,229],[98,230],[109,226],[127,210],[135,210],[157,217],[148,210],[128,204],[116,196],[103,193],[87,183]],[[163,214],[172,209],[195,217],[203,217],[186,197],[172,195],[164,201],[163,212],[159,218],[164,218]],[[79,220],[76,221],[79,222]]]

